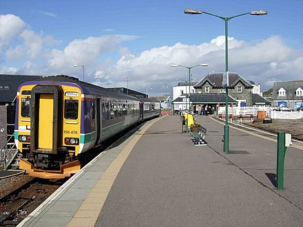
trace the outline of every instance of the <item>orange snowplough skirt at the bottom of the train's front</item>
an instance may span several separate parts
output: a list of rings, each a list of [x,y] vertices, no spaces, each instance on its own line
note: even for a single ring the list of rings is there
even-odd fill
[[[63,179],[70,177],[70,175],[77,173],[81,169],[79,160],[63,164],[59,171],[48,171],[43,169],[35,169],[34,165],[23,158],[20,159],[19,169],[25,170],[25,173],[32,177],[39,177],[44,179]]]

